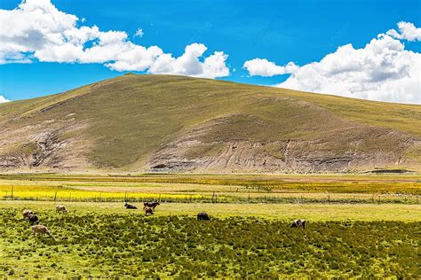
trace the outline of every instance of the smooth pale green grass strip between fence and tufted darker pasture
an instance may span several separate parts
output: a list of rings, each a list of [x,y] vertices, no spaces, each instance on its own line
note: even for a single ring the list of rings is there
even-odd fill
[[[0,209],[13,209],[20,217],[22,209],[32,209],[36,213],[53,215],[54,201],[1,201]],[[141,203],[139,210],[128,211],[123,202],[60,202],[67,206],[72,215],[83,214],[136,214],[142,215]],[[389,222],[421,222],[420,205],[401,204],[211,204],[211,203],[163,203],[156,209],[156,216],[188,215],[194,217],[198,212],[207,212],[212,217],[259,217],[270,220],[287,220],[306,218],[310,222],[329,221],[389,221]],[[369,214],[368,214],[369,213]]]

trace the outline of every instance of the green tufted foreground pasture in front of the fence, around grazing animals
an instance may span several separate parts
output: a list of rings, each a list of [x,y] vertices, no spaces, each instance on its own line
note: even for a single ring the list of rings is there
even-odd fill
[[[52,238],[32,237],[28,222],[21,219],[22,206],[37,211],[42,223],[51,230]],[[384,212],[385,207],[356,207],[355,213],[364,212],[367,217],[370,211],[374,219],[359,222],[342,215],[340,219],[317,220],[310,215],[307,229],[301,230],[289,228],[291,219],[305,214],[295,206],[286,206],[284,214],[278,208],[280,214],[271,219],[249,216],[247,210],[243,217],[240,213],[229,214],[229,208],[221,208],[226,212],[218,213],[211,207],[207,209],[212,215],[211,222],[195,221],[190,211],[197,213],[202,209],[191,206],[184,212],[179,207],[184,213],[180,214],[162,205],[158,206],[156,216],[145,217],[124,210],[121,204],[71,203],[68,214],[56,214],[52,204],[1,202],[0,276],[414,278],[419,275],[419,214],[409,222],[393,211],[388,217],[397,219],[381,221],[376,214]],[[415,210],[419,213],[420,209]],[[274,213],[274,209],[271,211]],[[328,211],[318,211],[321,217],[326,212],[345,214],[349,210],[328,207]]]

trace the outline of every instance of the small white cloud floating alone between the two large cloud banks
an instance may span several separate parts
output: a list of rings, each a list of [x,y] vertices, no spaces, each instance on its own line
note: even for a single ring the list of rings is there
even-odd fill
[[[254,58],[244,62],[242,68],[249,71],[250,76],[272,77],[279,74],[291,74],[298,70],[294,62],[289,62],[286,66],[277,66],[274,62],[266,58]]]

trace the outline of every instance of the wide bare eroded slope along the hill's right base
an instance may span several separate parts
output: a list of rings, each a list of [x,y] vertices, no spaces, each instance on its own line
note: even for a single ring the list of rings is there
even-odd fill
[[[352,122],[316,140],[206,141],[226,120],[210,121],[165,144],[149,162],[164,172],[349,172],[408,164],[405,152],[421,141],[389,129]],[[222,137],[224,138],[224,137]],[[393,151],[388,146],[393,145]]]

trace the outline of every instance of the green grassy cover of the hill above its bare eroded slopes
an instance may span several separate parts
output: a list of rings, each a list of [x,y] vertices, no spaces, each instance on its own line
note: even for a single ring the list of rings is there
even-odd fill
[[[260,153],[284,159],[284,144],[292,141],[298,143],[293,156],[393,152],[408,159],[397,167],[418,168],[419,145],[402,143],[419,139],[420,116],[419,105],[168,75],[123,75],[64,94],[0,105],[0,125],[7,133],[42,123],[45,129],[69,129],[60,132],[60,139],[73,144],[79,137],[72,150],[81,150],[77,157],[97,170],[145,169],[154,152],[180,136],[202,143],[187,149],[189,159],[216,156],[227,143],[244,141],[265,144]],[[46,127],[50,120],[54,122]],[[203,133],[196,135],[195,129]],[[20,151],[28,141],[28,136],[13,137],[16,143],[6,152]],[[31,152],[36,150],[26,154]],[[378,163],[389,166],[394,161]]]

